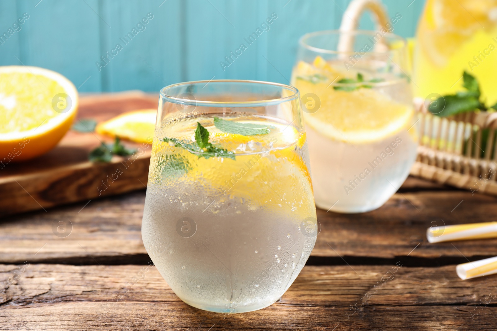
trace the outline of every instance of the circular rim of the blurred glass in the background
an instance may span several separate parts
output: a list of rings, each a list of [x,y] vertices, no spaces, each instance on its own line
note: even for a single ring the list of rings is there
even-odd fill
[[[317,53],[325,53],[325,54],[355,54],[357,53],[357,51],[346,51],[346,52],[342,52],[342,51],[337,51],[337,50],[330,50],[330,49],[324,49],[324,48],[319,48],[319,47],[315,47],[315,46],[311,46],[309,45],[308,43],[306,43],[306,39],[308,38],[311,38],[311,37],[315,37],[315,36],[319,36],[319,35],[341,35],[341,34],[350,34],[350,35],[366,35],[366,36],[374,36],[376,35],[377,33],[381,33],[382,34],[382,38],[383,37],[387,37],[387,38],[392,38],[392,39],[397,39],[399,41],[402,42],[402,46],[401,47],[396,47],[395,49],[389,49],[387,51],[382,51],[382,52],[378,52],[378,51],[368,51],[368,54],[388,54],[389,52],[393,51],[393,50],[401,50],[401,49],[407,49],[407,46],[408,46],[408,42],[407,42],[407,39],[402,37],[402,36],[399,36],[399,35],[396,35],[395,33],[391,33],[391,32],[386,32],[385,34],[383,34],[380,30],[351,30],[351,31],[343,31],[343,30],[321,30],[321,31],[315,31],[315,32],[309,32],[309,33],[306,33],[305,35],[303,35],[302,37],[299,38],[299,45],[310,50],[310,51],[313,51],[313,52],[317,52]]]

